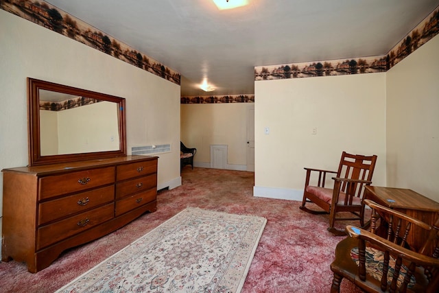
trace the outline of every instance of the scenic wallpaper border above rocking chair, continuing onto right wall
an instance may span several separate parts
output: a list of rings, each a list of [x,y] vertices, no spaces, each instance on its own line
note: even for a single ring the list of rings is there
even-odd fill
[[[254,80],[311,78],[317,76],[388,71],[439,33],[439,6],[409,32],[386,55],[366,58],[323,60],[254,67]]]

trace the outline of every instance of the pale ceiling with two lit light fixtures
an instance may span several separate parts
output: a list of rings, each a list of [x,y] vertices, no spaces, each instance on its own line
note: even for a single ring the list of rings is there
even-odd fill
[[[249,0],[218,10],[211,0],[46,1],[178,71],[182,96],[252,94],[255,66],[385,55],[439,5]],[[204,78],[215,91],[200,90]]]

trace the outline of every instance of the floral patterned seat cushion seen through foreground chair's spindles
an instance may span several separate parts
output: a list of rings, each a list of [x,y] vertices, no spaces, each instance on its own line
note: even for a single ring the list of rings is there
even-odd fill
[[[358,259],[358,247],[354,247],[351,249],[351,257],[355,263],[357,263],[357,266],[359,266],[359,259]],[[381,250],[377,250],[372,247],[366,247],[366,272],[372,276],[374,279],[377,279],[378,281],[381,281],[381,272],[383,269],[383,261],[384,261],[384,252]],[[394,273],[394,265],[395,265],[395,259],[390,256],[389,260],[389,271],[387,274],[388,282],[390,283],[392,281],[392,276]],[[402,265],[400,274],[398,276],[398,287],[401,286],[401,284],[404,281],[405,275],[407,274],[407,266]],[[416,279],[414,276],[410,279],[410,283],[407,285],[408,288],[412,288],[413,285],[416,283]]]

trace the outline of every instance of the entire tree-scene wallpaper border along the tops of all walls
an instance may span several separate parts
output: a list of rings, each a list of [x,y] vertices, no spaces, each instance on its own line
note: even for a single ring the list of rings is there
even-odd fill
[[[98,49],[110,56],[144,69],[180,85],[180,73],[141,54],[119,40],[107,36],[97,28],[43,0],[0,0],[0,9],[15,14]],[[439,33],[439,6],[420,22],[412,32],[396,44],[386,55],[365,58],[322,60],[254,67],[254,80],[308,78],[328,75],[346,75],[383,72],[410,55]],[[181,104],[219,104],[254,102],[254,95],[206,95],[181,97]]]

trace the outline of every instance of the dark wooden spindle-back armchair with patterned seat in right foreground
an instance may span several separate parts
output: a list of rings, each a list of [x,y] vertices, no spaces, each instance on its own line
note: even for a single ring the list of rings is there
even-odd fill
[[[439,220],[430,226],[370,200],[364,203],[372,208],[370,231],[346,226],[348,237],[337,244],[331,263],[331,292],[340,292],[343,278],[366,292],[439,292]],[[377,235],[378,222],[385,226],[383,237]],[[414,227],[429,235],[417,252],[407,248]]]

